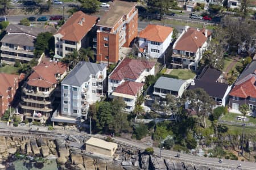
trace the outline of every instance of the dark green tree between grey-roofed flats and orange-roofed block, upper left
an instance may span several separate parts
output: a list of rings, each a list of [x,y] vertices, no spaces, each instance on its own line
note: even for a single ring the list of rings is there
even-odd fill
[[[49,54],[52,50],[54,51],[54,37],[51,32],[39,33],[35,40],[34,55],[40,57],[42,53]]]

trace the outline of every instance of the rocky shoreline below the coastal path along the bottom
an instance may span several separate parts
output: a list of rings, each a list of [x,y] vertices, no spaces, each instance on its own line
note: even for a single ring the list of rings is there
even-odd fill
[[[59,169],[86,169],[86,170],[132,170],[132,169],[217,169],[209,166],[192,163],[177,162],[172,159],[160,159],[154,155],[141,153],[139,150],[119,146],[113,158],[88,153],[84,143],[87,138],[43,139],[32,137],[0,137],[0,169],[11,166],[10,162],[23,159],[26,155],[26,167],[34,165],[39,169],[46,160],[56,159]],[[82,146],[82,147],[78,147]],[[20,157],[21,155],[21,157]],[[22,156],[23,155],[23,156]],[[30,159],[30,156],[38,156],[42,160]],[[17,158],[19,157],[19,158]]]

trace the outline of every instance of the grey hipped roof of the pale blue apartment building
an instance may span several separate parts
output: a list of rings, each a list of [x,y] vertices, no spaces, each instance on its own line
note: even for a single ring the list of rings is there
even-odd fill
[[[88,82],[91,74],[97,74],[104,70],[106,64],[80,61],[75,68],[66,76],[61,84],[80,87],[82,83]]]

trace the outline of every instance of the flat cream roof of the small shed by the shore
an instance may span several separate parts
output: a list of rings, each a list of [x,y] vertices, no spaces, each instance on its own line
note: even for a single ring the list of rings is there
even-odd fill
[[[88,141],[85,142],[85,144],[105,148],[107,150],[113,150],[113,148],[117,148],[117,143],[106,142],[98,138],[90,138]]]

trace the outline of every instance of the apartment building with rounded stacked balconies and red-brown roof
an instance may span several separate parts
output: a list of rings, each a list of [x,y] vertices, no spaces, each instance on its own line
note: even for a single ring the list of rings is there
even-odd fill
[[[56,88],[67,75],[68,67],[61,62],[46,61],[32,69],[33,73],[23,84],[19,107],[29,121],[45,122],[56,108]]]

